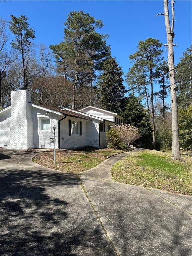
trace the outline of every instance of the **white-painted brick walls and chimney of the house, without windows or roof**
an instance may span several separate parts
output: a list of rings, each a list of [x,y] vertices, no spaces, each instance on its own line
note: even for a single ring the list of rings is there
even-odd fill
[[[59,147],[59,119],[62,113],[39,107],[31,103],[31,92],[27,90],[13,91],[12,105],[10,108],[0,111],[0,147],[7,145],[10,149],[53,148],[50,138],[53,138],[53,127],[56,127],[56,148]],[[89,111],[88,111],[89,112]],[[102,111],[101,111],[102,112]],[[99,113],[89,113],[91,115]],[[73,115],[73,113],[71,113]],[[75,113],[74,113],[75,114]],[[99,117],[113,118],[113,114],[100,113]],[[50,130],[41,131],[40,123],[43,119],[50,119]],[[69,136],[69,119],[78,122],[78,135]],[[99,124],[103,121],[91,116],[92,121],[76,117],[66,117],[60,122],[60,147],[77,148],[84,146],[99,146]],[[82,122],[82,135],[80,123]],[[105,132],[110,121],[105,121]],[[47,127],[47,126],[46,126]],[[47,129],[47,128],[45,128]],[[101,147],[107,146],[106,134],[100,132]]]

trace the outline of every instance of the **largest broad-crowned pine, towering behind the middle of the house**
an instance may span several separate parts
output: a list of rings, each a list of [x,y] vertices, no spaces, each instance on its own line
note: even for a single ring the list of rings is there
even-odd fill
[[[64,40],[51,45],[57,63],[57,72],[63,74],[73,84],[72,109],[76,106],[76,91],[82,85],[93,85],[95,70],[100,67],[100,60],[110,54],[106,46],[107,35],[100,35],[95,30],[102,28],[101,20],[82,11],[69,13],[64,23]],[[91,93],[92,94],[92,93]],[[92,95],[90,96],[90,102]]]

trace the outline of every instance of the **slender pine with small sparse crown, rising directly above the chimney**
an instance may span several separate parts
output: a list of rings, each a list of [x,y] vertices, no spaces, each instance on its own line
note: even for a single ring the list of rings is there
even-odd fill
[[[32,28],[29,28],[28,18],[24,15],[15,17],[10,15],[12,20],[9,22],[9,29],[15,35],[15,40],[11,42],[13,48],[15,48],[22,56],[23,66],[23,85],[27,88],[27,72],[25,57],[28,53],[29,46],[31,44],[30,39],[35,39],[35,32]]]

